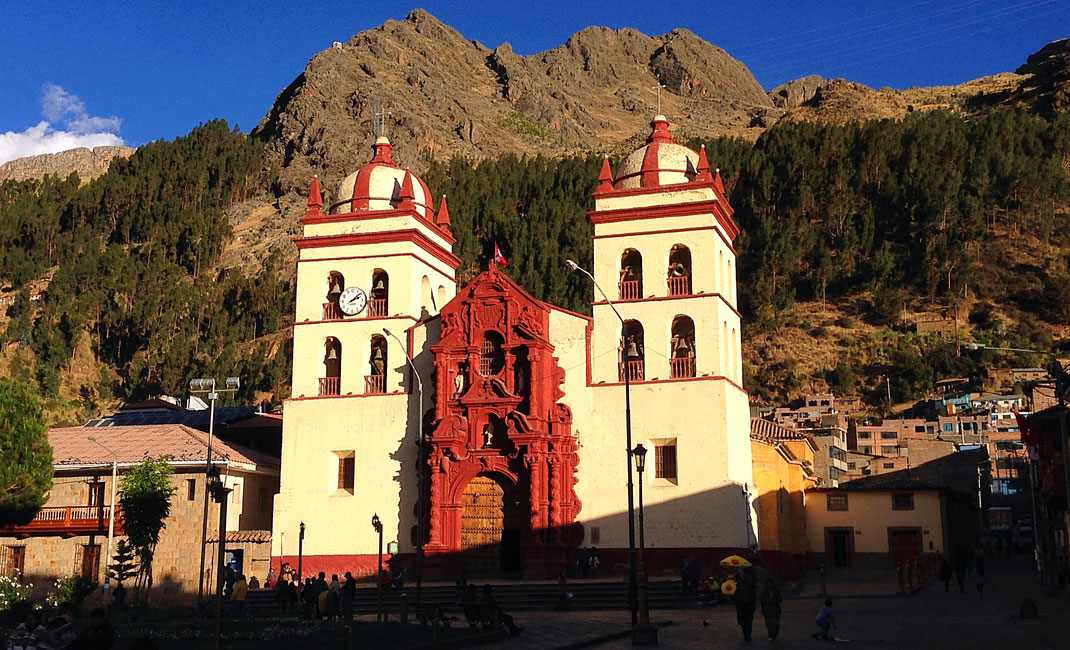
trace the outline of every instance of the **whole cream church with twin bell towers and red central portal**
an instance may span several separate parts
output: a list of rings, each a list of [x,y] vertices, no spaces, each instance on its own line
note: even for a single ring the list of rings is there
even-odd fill
[[[608,299],[592,286],[587,317],[493,262],[458,290],[445,197],[435,210],[385,138],[333,205],[314,180],[294,238],[276,568],[374,573],[374,515],[395,570],[422,547],[427,573],[555,576],[595,546],[603,572],[623,572],[626,410],[649,452],[633,477],[647,565],[755,541],[738,229],[720,176],[657,116],[599,181],[594,259],[577,262]]]

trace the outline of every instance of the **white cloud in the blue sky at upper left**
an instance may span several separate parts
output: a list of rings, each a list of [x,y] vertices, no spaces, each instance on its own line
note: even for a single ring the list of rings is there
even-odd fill
[[[56,153],[78,147],[123,145],[122,120],[89,115],[86,104],[55,84],[41,97],[44,120],[22,132],[0,133],[0,165],[28,155]]]

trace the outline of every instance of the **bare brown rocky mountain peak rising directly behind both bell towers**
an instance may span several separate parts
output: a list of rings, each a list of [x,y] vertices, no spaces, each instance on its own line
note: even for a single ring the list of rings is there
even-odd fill
[[[626,150],[658,111],[677,135],[747,134],[775,110],[750,71],[687,30],[647,36],[588,27],[521,57],[467,40],[423,10],[316,55],[278,96],[255,135],[282,169],[282,188],[319,173],[332,187],[363,164],[373,99],[400,163],[460,154]]]

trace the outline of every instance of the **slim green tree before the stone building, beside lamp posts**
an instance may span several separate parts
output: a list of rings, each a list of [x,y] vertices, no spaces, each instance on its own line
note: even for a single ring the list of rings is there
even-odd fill
[[[171,513],[171,486],[173,468],[166,456],[147,458],[132,467],[119,482],[122,496],[119,505],[123,510],[123,531],[138,558],[135,593],[140,592],[135,602],[149,602],[152,589],[152,558],[159,543],[159,533],[167,526]]]

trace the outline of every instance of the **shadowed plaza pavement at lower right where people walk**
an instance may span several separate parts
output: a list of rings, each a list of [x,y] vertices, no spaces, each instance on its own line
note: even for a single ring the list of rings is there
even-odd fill
[[[851,639],[850,645],[855,648],[1070,648],[1070,591],[1056,599],[1046,596],[1028,562],[1024,556],[1011,562],[988,561],[983,599],[978,596],[972,575],[966,579],[964,593],[959,593],[952,579],[949,593],[944,592],[942,583],[935,581],[911,595],[896,593],[898,583],[886,576],[829,575],[827,586],[829,598],[835,601],[837,635]],[[815,592],[816,578],[811,574],[799,594],[789,594],[783,602],[780,637],[774,643],[767,640],[761,611],[754,616],[754,640],[744,643],[731,604],[656,610],[651,618],[655,623],[672,620],[671,625],[659,630],[661,648],[824,648],[831,641],[811,638],[816,631],[814,615],[824,601]],[[1038,620],[1019,617],[1025,598],[1037,604]],[[626,611],[518,613],[516,618],[524,628],[521,636],[482,647],[511,650],[631,647],[630,638],[598,643],[608,634],[627,629]]]

